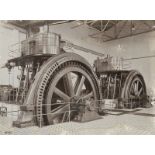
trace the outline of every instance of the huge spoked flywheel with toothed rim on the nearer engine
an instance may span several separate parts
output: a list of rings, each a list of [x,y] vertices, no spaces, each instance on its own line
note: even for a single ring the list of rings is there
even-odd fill
[[[97,78],[81,56],[65,53],[52,58],[43,66],[44,75],[36,92],[36,119],[44,124],[56,124],[74,119],[82,102],[99,105]],[[74,107],[74,109],[72,109]]]

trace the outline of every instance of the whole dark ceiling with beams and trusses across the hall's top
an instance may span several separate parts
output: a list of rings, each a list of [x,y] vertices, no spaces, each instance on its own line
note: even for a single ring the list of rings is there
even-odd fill
[[[107,42],[115,39],[130,37],[155,30],[154,20],[8,20],[1,22],[1,25],[9,28],[17,28],[22,32],[29,29],[37,29],[44,25],[58,25],[74,22],[71,29],[87,26],[90,31],[89,37],[100,42]]]

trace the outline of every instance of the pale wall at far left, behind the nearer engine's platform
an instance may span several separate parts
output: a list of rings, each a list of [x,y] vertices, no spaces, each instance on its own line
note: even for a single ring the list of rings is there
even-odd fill
[[[9,46],[18,43],[19,40],[24,38],[25,35],[23,33],[0,26],[0,66],[4,65],[11,58],[9,56]],[[11,72],[10,84],[17,86],[16,74],[17,69]],[[6,68],[0,69],[0,84],[9,84],[8,70]]]

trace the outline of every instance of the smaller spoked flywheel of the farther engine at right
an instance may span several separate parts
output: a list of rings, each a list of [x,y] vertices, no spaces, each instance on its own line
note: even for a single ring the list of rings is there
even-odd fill
[[[126,108],[134,108],[147,104],[146,85],[143,76],[138,71],[130,71],[122,89],[121,97],[126,99]]]

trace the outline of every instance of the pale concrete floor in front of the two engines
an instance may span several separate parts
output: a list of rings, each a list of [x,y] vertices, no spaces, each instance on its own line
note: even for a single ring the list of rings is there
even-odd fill
[[[8,111],[17,110],[17,106],[8,105]],[[10,113],[7,117],[0,116],[0,134],[13,135],[84,135],[84,134],[108,134],[108,135],[145,135],[155,134],[155,106],[148,109],[126,110],[128,112],[112,112],[102,119],[76,123],[68,122],[39,128],[37,126],[27,128],[12,127],[12,121],[16,114]]]

